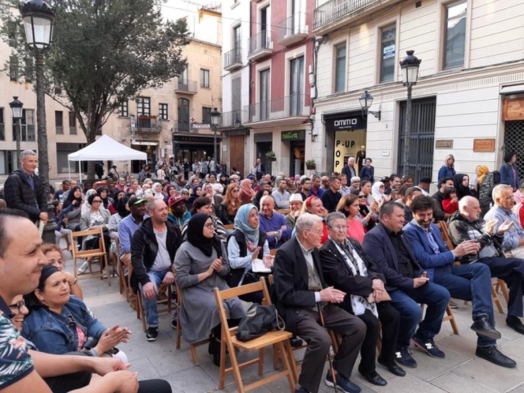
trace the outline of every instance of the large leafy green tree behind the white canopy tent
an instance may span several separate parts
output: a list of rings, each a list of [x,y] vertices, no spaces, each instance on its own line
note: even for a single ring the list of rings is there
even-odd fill
[[[119,105],[180,75],[189,43],[185,19],[165,21],[163,0],[55,0],[46,94],[77,118],[88,144]],[[32,73],[16,0],[0,4],[0,36],[12,53],[5,71]],[[9,65],[11,67],[9,68]],[[60,89],[57,89],[59,87]],[[94,178],[94,162],[88,176]]]

